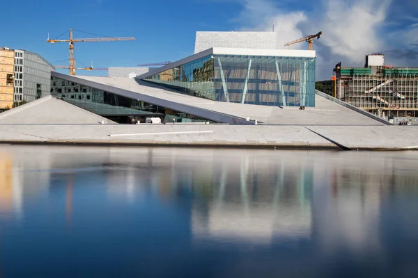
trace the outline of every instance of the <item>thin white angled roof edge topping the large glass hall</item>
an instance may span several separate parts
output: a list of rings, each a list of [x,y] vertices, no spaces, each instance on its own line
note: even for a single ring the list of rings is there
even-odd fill
[[[249,48],[226,48],[226,47],[212,47],[201,51],[192,56],[188,56],[181,60],[178,60],[164,67],[157,67],[152,72],[141,74],[135,77],[135,79],[146,79],[149,76],[170,70],[173,67],[178,67],[185,63],[192,62],[194,60],[212,55],[241,55],[241,56],[279,56],[279,57],[304,57],[304,58],[316,58],[316,51],[314,50],[295,50],[295,49],[249,49]]]

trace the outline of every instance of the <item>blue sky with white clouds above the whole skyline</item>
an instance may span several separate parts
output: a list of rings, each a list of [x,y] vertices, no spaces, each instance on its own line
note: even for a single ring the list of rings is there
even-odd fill
[[[51,63],[61,61],[56,65],[68,64],[68,44],[48,44],[47,33],[56,38],[68,28],[136,37],[76,44],[77,66],[116,67],[192,54],[196,31],[268,31],[274,22],[279,45],[324,32],[314,43],[318,79],[329,78],[339,61],[362,66],[371,52],[384,52],[395,66],[418,67],[417,0],[22,0],[19,10],[3,13],[2,22],[13,24],[0,28],[0,46],[38,52]],[[75,32],[76,38],[91,36]]]

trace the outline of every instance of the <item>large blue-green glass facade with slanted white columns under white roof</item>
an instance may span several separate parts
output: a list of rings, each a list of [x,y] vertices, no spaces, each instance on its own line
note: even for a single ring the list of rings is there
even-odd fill
[[[215,101],[315,106],[315,58],[212,54],[144,81]]]

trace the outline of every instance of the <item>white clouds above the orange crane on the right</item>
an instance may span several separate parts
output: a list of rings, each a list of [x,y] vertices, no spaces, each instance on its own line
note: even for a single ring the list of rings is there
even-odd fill
[[[279,48],[286,42],[323,31],[314,42],[317,51],[317,79],[330,79],[338,62],[364,65],[364,56],[385,49],[385,26],[392,0],[318,0],[313,11],[300,10],[290,0],[240,1],[242,12],[235,18],[243,31],[271,31],[274,22]],[[277,3],[281,6],[277,6]],[[417,36],[415,36],[417,38]],[[307,49],[306,43],[293,49]]]

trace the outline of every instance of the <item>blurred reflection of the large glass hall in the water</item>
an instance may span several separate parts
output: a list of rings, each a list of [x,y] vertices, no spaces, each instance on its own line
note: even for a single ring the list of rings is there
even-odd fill
[[[270,243],[273,238],[311,236],[312,172],[295,165],[276,171],[257,162],[257,169],[241,167],[239,186],[231,180],[226,186],[222,175],[206,209],[193,206],[194,238]]]

